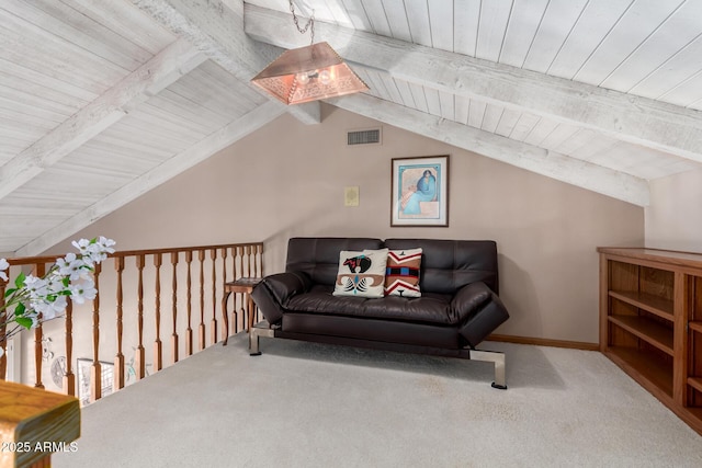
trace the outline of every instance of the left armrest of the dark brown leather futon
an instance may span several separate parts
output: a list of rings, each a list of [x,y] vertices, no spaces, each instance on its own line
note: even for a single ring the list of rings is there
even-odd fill
[[[270,324],[281,321],[287,300],[307,292],[312,279],[306,273],[276,273],[261,279],[251,293],[251,298]]]

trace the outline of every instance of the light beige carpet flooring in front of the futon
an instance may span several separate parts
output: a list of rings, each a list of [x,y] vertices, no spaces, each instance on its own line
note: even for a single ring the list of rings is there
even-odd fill
[[[82,412],[54,467],[702,467],[702,437],[597,352],[479,362],[244,334]]]

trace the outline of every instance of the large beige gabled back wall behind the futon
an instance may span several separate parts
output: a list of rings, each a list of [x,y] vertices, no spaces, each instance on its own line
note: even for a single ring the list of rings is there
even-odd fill
[[[598,341],[596,247],[641,246],[643,208],[387,125],[383,145],[346,146],[348,129],[376,125],[331,106],[321,125],[282,116],[71,239],[105,235],[122,250],[264,240],[269,273],[291,236],[494,239],[511,313],[499,333]],[[433,155],[451,155],[450,227],[390,228],[390,159]],[[359,207],[343,206],[348,185]]]

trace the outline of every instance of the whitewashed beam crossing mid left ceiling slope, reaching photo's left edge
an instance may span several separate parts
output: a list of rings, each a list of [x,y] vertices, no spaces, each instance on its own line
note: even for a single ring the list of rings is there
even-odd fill
[[[0,198],[120,121],[206,60],[188,42],[177,41],[115,87],[71,115],[0,168]]]

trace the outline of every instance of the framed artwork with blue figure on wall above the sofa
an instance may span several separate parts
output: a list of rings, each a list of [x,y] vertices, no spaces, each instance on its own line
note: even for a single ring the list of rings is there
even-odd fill
[[[393,158],[390,226],[449,226],[449,156]]]

